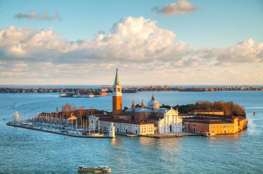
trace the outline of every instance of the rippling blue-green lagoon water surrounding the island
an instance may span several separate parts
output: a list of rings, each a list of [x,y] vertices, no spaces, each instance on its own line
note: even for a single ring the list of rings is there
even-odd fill
[[[132,99],[147,103],[151,95],[152,92],[125,93],[123,107],[130,107]],[[0,173],[72,174],[82,164],[109,165],[113,174],[263,173],[263,91],[154,92],[154,95],[160,104],[172,105],[197,100],[233,100],[245,106],[250,127],[239,134],[216,137],[153,139],[117,135],[115,139],[68,137],[65,140],[62,135],[5,124],[14,111],[23,115],[55,112],[57,106],[61,108],[66,102],[111,111],[112,96],[59,98],[58,93],[2,93]],[[254,111],[258,115],[253,115]]]

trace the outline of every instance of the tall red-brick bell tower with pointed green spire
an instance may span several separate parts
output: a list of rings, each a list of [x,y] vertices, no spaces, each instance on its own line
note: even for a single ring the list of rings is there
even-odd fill
[[[122,114],[122,86],[118,76],[118,69],[116,70],[116,76],[113,85],[113,114]]]

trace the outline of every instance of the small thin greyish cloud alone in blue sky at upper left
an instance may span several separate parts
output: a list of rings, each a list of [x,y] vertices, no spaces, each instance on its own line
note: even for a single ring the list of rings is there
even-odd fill
[[[17,19],[36,19],[36,20],[59,20],[61,21],[61,17],[59,15],[59,11],[56,10],[56,13],[54,16],[50,16],[46,10],[43,10],[42,13],[36,13],[35,10],[31,10],[30,14],[23,14],[23,13],[17,13],[14,15],[14,18]]]

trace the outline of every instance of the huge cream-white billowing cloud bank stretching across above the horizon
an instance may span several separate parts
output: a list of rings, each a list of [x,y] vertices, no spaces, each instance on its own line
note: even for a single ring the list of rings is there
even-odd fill
[[[195,50],[193,44],[176,41],[176,34],[158,27],[157,21],[143,17],[123,17],[92,40],[70,41],[52,27],[0,29],[0,84],[111,84],[115,68],[122,70],[125,84],[204,84],[198,83],[202,78],[228,84],[229,78],[236,83],[240,81],[233,78],[241,76],[248,84],[249,76],[259,82],[263,72],[229,72],[225,67],[262,62],[263,43],[253,39]],[[145,78],[138,82],[138,77]]]

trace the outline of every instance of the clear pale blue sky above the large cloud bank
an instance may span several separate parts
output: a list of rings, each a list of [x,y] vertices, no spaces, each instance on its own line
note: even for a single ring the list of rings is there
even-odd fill
[[[93,39],[98,31],[108,32],[112,24],[124,16],[150,18],[158,26],[172,30],[176,40],[194,43],[196,47],[226,47],[254,38],[263,41],[262,0],[198,0],[189,2],[197,10],[174,16],[159,15],[151,8],[169,4],[174,0],[0,0],[1,28],[10,25],[48,29],[62,33],[63,37]],[[15,4],[15,5],[13,5]],[[58,9],[62,21],[17,20],[13,16],[31,10],[47,10],[50,15]]]

